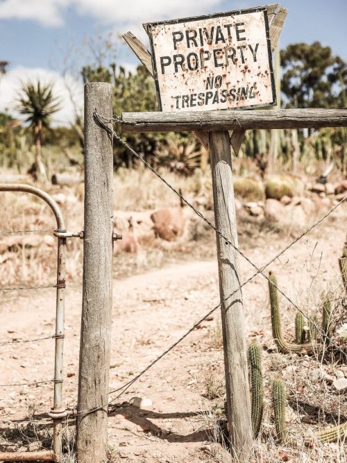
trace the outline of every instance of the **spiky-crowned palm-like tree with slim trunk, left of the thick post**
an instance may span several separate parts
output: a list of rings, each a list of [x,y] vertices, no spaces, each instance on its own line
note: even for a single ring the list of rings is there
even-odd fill
[[[60,109],[60,101],[53,96],[53,83],[42,85],[28,81],[22,83],[18,110],[26,115],[26,122],[33,130],[35,143],[35,163],[31,172],[36,178],[47,180],[46,169],[42,162],[42,130],[49,128],[51,115]]]

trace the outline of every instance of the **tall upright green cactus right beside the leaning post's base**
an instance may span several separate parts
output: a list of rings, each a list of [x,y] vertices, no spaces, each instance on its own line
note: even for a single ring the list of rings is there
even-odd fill
[[[248,367],[251,375],[251,404],[253,436],[257,437],[262,424],[264,410],[264,389],[262,385],[262,359],[258,344],[248,346]]]

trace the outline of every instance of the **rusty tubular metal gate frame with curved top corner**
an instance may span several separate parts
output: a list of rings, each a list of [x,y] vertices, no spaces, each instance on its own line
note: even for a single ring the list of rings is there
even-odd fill
[[[67,411],[62,405],[62,370],[64,354],[64,314],[65,314],[65,278],[66,278],[66,242],[67,237],[81,236],[79,233],[69,233],[66,230],[62,212],[53,198],[40,188],[24,183],[0,183],[0,192],[24,192],[34,194],[45,201],[56,217],[57,228],[53,235],[58,237],[57,282],[56,282],[56,333],[54,359],[54,393],[53,407],[48,413],[53,421],[53,451],[38,452],[1,452],[0,460],[7,462],[17,461],[54,461],[60,462],[62,455],[62,419]]]

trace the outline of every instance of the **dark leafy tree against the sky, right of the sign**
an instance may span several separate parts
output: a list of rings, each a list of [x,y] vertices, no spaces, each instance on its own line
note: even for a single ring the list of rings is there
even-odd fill
[[[344,106],[346,62],[319,42],[291,44],[280,53],[282,93],[287,107],[338,108]]]

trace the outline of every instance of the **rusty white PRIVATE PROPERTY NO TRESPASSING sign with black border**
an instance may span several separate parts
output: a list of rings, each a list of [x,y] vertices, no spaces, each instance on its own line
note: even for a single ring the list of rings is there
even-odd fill
[[[144,24],[162,111],[276,104],[266,6]]]

